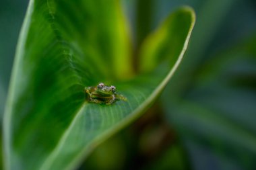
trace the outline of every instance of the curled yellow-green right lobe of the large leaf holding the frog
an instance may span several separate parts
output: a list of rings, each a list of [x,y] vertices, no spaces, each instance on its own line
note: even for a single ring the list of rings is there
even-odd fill
[[[185,32],[188,31],[188,26],[191,24],[191,18],[184,15],[184,12],[190,13],[191,11],[187,8],[185,11],[174,13],[168,17],[162,24],[162,28],[149,36],[142,44],[139,63],[141,72],[151,71],[159,63],[164,65],[166,60],[168,62],[174,62],[176,58],[170,58],[170,55],[183,55],[185,52],[183,50],[183,40],[187,37]],[[173,24],[173,22],[177,24]],[[184,26],[181,27],[180,24]],[[188,40],[185,44],[187,43]]]

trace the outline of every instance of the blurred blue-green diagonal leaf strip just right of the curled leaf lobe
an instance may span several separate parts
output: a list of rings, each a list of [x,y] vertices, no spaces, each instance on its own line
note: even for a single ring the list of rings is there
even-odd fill
[[[170,95],[169,99],[174,102],[190,87],[194,74],[201,67],[201,60],[204,60],[207,54],[214,52],[216,48],[220,48],[218,45],[212,46],[212,43],[219,36],[221,38],[218,41],[224,41],[222,35],[218,33],[224,30],[223,24],[226,22],[226,16],[235,1],[207,0],[197,1],[197,3],[198,5],[195,5],[197,7],[197,24],[185,54],[187,57],[184,58],[182,67],[179,67],[177,73],[172,77],[174,81],[168,85],[168,91],[166,91]]]

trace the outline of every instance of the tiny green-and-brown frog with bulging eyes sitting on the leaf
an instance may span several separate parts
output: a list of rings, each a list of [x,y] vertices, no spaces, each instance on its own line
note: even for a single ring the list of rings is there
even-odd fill
[[[85,87],[84,91],[88,94],[88,101],[92,103],[104,103],[110,105],[116,100],[127,101],[127,98],[116,92],[116,87],[98,83],[97,86]]]

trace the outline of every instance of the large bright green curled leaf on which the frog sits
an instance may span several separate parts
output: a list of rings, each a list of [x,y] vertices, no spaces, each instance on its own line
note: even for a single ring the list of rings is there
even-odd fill
[[[134,76],[119,1],[30,1],[5,108],[6,169],[77,167],[160,94],[181,62],[194,20],[188,7],[170,15],[159,30],[182,28],[168,36],[174,43],[163,44],[168,50],[179,42],[177,48],[164,54],[154,48],[163,62]],[[142,51],[148,42],[151,50],[152,38],[159,42],[164,37],[148,38]],[[115,85],[127,101],[88,103],[84,87],[99,82]]]

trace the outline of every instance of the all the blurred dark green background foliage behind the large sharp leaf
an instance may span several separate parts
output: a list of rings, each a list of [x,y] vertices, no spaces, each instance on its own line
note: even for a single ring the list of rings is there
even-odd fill
[[[0,113],[28,0],[0,1]],[[180,5],[189,49],[155,105],[78,169],[255,169],[256,1],[123,0],[136,49]],[[135,63],[136,64],[136,63]]]

